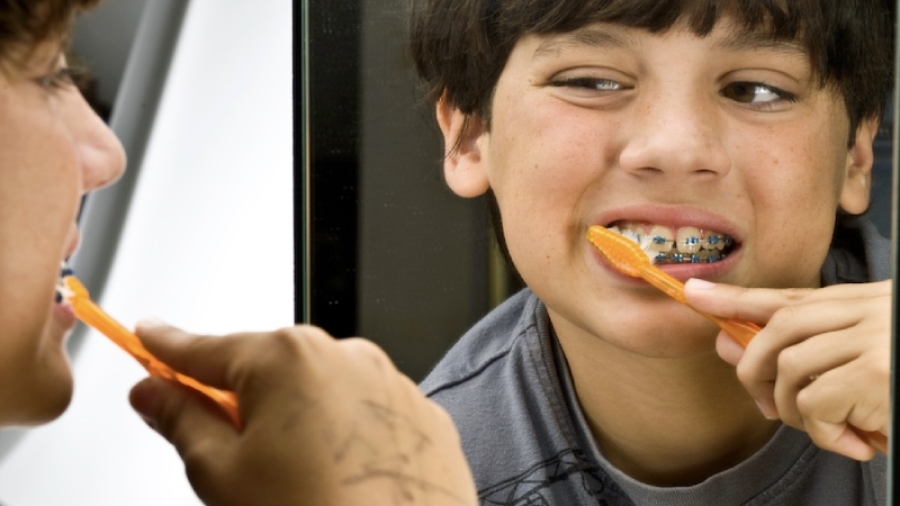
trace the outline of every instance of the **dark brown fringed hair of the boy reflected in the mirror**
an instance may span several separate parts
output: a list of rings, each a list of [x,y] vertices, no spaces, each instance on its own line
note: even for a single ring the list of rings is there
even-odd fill
[[[879,116],[893,84],[894,0],[409,0],[410,49],[426,99],[444,96],[490,121],[490,101],[515,43],[608,22],[660,33],[684,20],[698,36],[729,16],[744,30],[806,48],[823,86],[856,127]]]

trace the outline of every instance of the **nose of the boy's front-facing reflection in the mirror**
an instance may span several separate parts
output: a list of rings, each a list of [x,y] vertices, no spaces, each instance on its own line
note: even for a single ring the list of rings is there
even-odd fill
[[[719,137],[715,100],[681,91],[647,92],[635,102],[619,155],[623,169],[667,179],[728,173],[731,162]]]

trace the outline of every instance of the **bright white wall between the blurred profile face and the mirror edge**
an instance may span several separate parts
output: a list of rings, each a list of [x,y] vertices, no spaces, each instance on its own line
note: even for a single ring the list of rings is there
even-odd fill
[[[293,322],[291,2],[192,0],[100,301],[224,333]],[[144,376],[97,334],[57,422],[0,460],[4,506],[200,504],[127,403]]]

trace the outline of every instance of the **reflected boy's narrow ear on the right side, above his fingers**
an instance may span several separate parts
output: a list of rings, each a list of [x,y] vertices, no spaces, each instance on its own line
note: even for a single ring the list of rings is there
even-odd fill
[[[856,129],[856,142],[847,153],[847,171],[839,203],[850,214],[862,214],[869,208],[872,165],[875,163],[872,143],[878,133],[878,124],[878,117],[860,122]]]

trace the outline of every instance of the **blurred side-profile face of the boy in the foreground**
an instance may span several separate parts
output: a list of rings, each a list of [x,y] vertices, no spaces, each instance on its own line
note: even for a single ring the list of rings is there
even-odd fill
[[[69,402],[75,317],[54,285],[78,246],[82,196],[125,167],[119,140],[60,79],[59,41],[26,54],[0,72],[0,426],[49,420]]]

